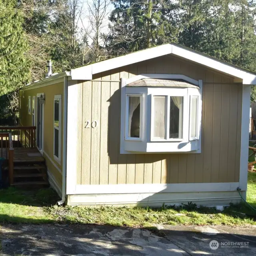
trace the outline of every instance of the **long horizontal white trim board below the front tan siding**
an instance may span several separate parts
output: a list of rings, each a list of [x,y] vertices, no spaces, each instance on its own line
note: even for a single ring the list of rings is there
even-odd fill
[[[73,169],[74,170],[74,169]],[[74,175],[75,176],[75,175]],[[69,184],[71,185],[71,184]],[[176,183],[176,184],[114,184],[76,185],[67,187],[67,194],[138,194],[173,192],[216,192],[236,191],[239,182],[231,183]]]

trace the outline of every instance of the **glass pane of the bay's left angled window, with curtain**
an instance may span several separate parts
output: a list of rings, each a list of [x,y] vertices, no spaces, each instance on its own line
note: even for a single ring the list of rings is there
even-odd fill
[[[140,138],[140,96],[128,96],[128,137]]]

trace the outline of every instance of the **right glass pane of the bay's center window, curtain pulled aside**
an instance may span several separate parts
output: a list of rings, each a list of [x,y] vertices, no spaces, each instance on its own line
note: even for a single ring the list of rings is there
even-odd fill
[[[170,97],[170,133],[172,139],[182,138],[183,97]]]

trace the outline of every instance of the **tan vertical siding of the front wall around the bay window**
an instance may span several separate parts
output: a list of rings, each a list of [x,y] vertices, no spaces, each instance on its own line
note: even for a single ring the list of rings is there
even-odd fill
[[[143,73],[184,74],[203,80],[201,154],[120,154],[120,83],[114,81]],[[241,84],[169,56],[110,70],[94,80],[114,81],[89,81],[82,86],[78,184],[238,182]],[[97,128],[84,128],[87,120],[97,120]]]

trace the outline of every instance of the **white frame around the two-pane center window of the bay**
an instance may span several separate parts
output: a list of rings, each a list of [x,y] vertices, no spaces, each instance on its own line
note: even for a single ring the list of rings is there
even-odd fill
[[[151,122],[150,122],[150,141],[176,141],[180,142],[183,140],[187,140],[186,136],[184,133],[186,132],[185,129],[185,124],[186,124],[186,101],[187,101],[187,94],[188,90],[186,88],[183,89],[177,89],[177,88],[149,88],[149,93],[151,93]],[[166,105],[165,105],[165,138],[154,138],[154,97],[155,96],[165,96],[166,98]],[[182,119],[180,115],[180,120],[179,120],[179,126],[182,125],[181,130],[182,130],[182,136],[181,138],[168,138],[169,137],[169,127],[170,127],[170,97],[171,96],[179,96],[183,97],[182,101]],[[179,128],[180,131],[180,128]]]

